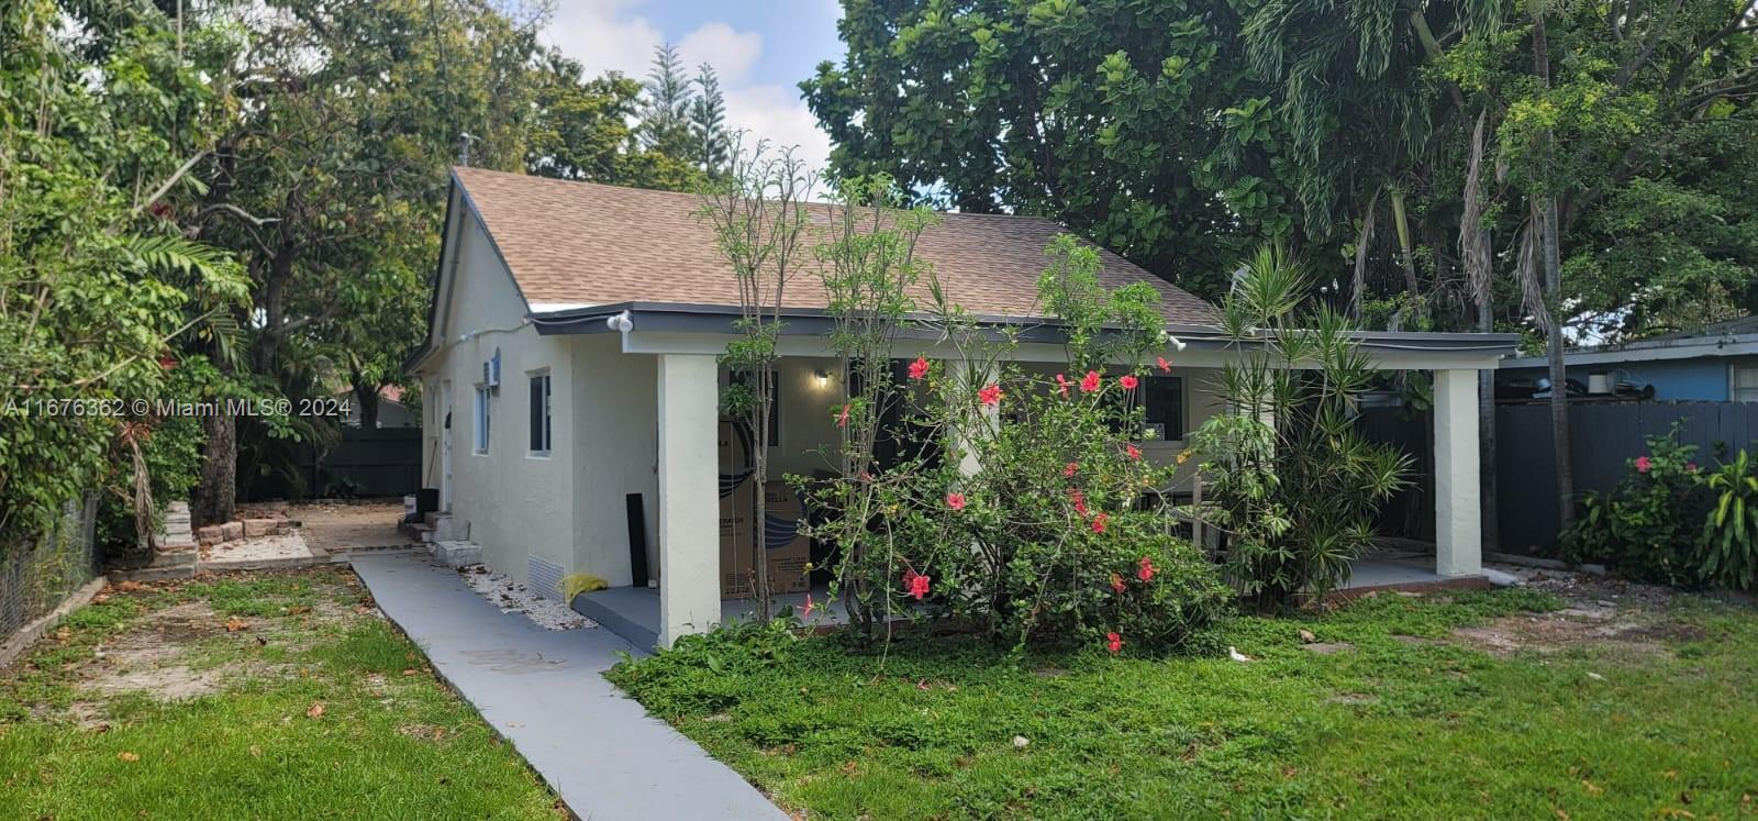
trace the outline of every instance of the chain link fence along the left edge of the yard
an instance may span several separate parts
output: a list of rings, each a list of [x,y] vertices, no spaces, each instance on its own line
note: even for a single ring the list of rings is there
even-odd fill
[[[35,543],[0,545],[0,642],[97,577],[97,515],[95,496],[70,501]]]

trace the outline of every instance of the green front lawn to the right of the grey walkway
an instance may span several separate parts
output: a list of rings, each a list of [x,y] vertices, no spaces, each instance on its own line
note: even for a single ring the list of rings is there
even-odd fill
[[[1559,607],[1241,617],[1252,663],[723,640],[612,679],[812,817],[1758,817],[1758,612]]]

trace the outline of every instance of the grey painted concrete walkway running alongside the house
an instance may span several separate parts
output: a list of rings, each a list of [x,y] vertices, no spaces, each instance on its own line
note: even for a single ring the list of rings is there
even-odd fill
[[[541,629],[422,554],[357,554],[353,568],[380,610],[580,817],[788,817],[599,675],[617,650],[642,652],[608,629]]]

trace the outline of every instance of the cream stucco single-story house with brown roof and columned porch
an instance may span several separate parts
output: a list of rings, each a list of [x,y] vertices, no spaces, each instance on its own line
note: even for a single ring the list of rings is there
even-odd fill
[[[830,206],[814,206],[828,214]],[[738,315],[737,283],[689,193],[455,169],[431,308],[411,360],[424,390],[424,476],[441,510],[492,568],[554,592],[566,573],[612,587],[635,578],[631,533],[657,577],[661,643],[721,621],[719,362]],[[1065,229],[1034,216],[951,213],[918,244],[949,297],[986,323],[1025,329],[1021,367],[1055,369],[1064,346],[1035,281],[1044,246]],[[1215,371],[1236,355],[1213,308],[1122,257],[1101,251],[1106,287],[1159,288],[1174,369],[1150,385],[1164,425],[1150,459],[1225,403]],[[825,468],[832,408],[844,401],[814,276],[789,285],[777,369],[774,473]],[[1387,369],[1435,373],[1436,566],[1480,573],[1478,371],[1514,350],[1508,334],[1368,332]],[[900,339],[897,359],[953,359],[932,336]],[[629,505],[631,496],[640,505]],[[645,512],[631,527],[631,510]]]

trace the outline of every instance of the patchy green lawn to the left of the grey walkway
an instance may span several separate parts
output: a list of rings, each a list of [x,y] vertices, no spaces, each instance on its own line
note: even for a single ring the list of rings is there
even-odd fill
[[[0,672],[0,816],[557,817],[346,570],[111,592]]]

